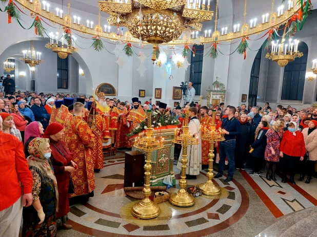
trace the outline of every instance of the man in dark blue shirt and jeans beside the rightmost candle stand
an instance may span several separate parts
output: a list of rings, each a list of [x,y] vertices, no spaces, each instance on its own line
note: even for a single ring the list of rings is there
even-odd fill
[[[234,163],[234,150],[235,150],[235,137],[241,134],[241,125],[239,120],[234,117],[235,107],[228,106],[226,110],[226,115],[228,118],[225,118],[222,122],[221,128],[225,133],[225,141],[220,142],[220,161],[219,161],[219,171],[214,178],[220,178],[223,176],[225,169],[225,160],[228,158],[229,170],[228,177],[225,179],[225,182],[230,182],[233,179],[233,173],[235,169]]]

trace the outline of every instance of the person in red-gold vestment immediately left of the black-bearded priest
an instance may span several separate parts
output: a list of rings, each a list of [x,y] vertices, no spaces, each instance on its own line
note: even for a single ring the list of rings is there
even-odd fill
[[[119,120],[118,120],[118,130],[116,132],[116,139],[115,139],[115,148],[122,148],[127,146],[128,137],[126,136],[129,133],[129,126],[127,122],[126,115],[128,113],[126,103],[121,102],[119,111]]]

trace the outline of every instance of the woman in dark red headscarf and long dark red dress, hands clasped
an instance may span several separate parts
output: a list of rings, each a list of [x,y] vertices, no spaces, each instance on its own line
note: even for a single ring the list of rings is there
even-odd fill
[[[69,212],[68,193],[70,173],[75,171],[77,164],[73,159],[73,154],[67,149],[63,137],[63,126],[59,123],[50,123],[43,135],[50,139],[50,148],[52,150],[50,160],[53,165],[54,174],[58,187],[58,211],[56,213],[57,227],[71,229],[72,226],[66,224],[67,213]],[[71,191],[71,190],[70,190]]]

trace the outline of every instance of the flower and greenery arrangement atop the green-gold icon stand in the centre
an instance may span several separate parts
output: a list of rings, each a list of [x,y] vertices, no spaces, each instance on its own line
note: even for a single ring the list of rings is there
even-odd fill
[[[127,137],[132,137],[135,134],[141,133],[146,130],[146,118],[136,127],[131,133],[127,134]],[[170,116],[169,111],[164,114],[161,114],[159,111],[154,111],[152,114],[152,127],[161,127],[167,125],[179,125],[180,121],[178,120],[178,116]]]

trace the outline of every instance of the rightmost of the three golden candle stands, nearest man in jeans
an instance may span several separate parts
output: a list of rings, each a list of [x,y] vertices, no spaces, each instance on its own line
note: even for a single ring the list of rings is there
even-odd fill
[[[217,196],[221,194],[220,186],[212,182],[213,158],[214,158],[213,144],[215,142],[224,141],[225,133],[224,133],[224,130],[222,130],[221,128],[219,128],[218,130],[216,129],[215,116],[216,116],[216,111],[213,110],[211,124],[201,125],[201,139],[205,141],[209,141],[210,147],[209,147],[209,154],[208,154],[208,158],[209,158],[209,167],[208,167],[208,173],[207,173],[208,180],[206,183],[200,184],[199,188],[202,189],[202,192],[208,196]]]

